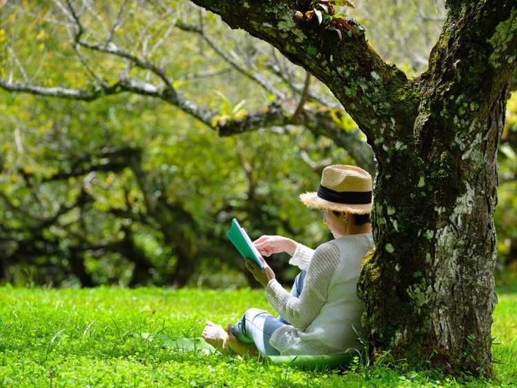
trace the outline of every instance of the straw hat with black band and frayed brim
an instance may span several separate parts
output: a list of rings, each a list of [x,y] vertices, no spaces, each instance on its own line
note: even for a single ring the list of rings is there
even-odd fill
[[[300,194],[309,207],[354,214],[372,212],[372,176],[354,165],[329,165],[323,169],[318,192]]]

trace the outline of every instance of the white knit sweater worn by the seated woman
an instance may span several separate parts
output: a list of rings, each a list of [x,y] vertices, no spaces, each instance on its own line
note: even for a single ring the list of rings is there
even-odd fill
[[[271,336],[271,345],[281,355],[333,354],[360,347],[352,328],[361,331],[363,303],[356,285],[363,256],[372,247],[371,233],[336,238],[316,250],[298,244],[289,263],[307,270],[300,296],[292,296],[276,279],[265,289],[276,312],[291,323]]]

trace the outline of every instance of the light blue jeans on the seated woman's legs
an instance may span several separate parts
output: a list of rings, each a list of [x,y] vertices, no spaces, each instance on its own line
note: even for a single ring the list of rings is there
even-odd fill
[[[305,270],[294,278],[291,295],[300,296],[305,279]],[[232,326],[232,333],[242,343],[254,343],[256,349],[265,356],[278,356],[280,352],[270,344],[271,335],[278,327],[290,325],[281,316],[275,318],[262,309],[247,309],[243,317]]]

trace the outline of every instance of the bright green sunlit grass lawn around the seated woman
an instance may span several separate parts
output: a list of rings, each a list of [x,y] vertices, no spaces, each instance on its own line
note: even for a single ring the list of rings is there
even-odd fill
[[[236,386],[456,387],[517,381],[517,288],[502,289],[494,315],[496,380],[439,379],[360,363],[300,371],[252,358],[172,351],[142,333],[199,336],[205,319],[234,322],[249,307],[270,309],[263,292],[196,289],[0,288],[0,387]]]

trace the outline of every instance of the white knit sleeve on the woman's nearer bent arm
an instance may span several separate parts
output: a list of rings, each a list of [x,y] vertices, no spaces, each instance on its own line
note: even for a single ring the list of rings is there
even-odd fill
[[[291,325],[305,329],[325,305],[330,280],[339,262],[338,247],[331,243],[319,246],[310,261],[300,296],[292,296],[276,279],[272,279],[265,289],[267,300]]]

